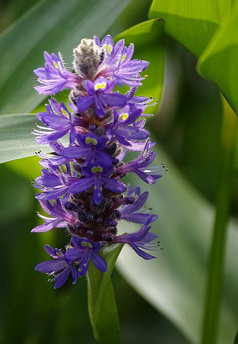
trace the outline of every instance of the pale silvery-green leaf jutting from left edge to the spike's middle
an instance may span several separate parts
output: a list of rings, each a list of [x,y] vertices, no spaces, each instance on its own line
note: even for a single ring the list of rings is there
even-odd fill
[[[0,116],[0,163],[35,155],[39,149],[52,151],[49,145],[36,143],[29,133],[35,120],[34,115]]]

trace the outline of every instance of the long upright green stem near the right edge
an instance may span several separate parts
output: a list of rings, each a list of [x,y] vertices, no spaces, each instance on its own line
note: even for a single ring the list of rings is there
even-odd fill
[[[216,218],[208,262],[208,280],[201,341],[203,344],[215,344],[217,340],[237,133],[237,117],[223,98],[221,167],[217,190]]]

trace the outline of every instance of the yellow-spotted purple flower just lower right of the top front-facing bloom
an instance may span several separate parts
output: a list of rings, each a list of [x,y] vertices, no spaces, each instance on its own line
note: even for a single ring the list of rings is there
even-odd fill
[[[119,143],[124,146],[130,146],[130,140],[144,140],[148,138],[149,131],[135,123],[141,114],[142,111],[140,109],[130,112],[128,105],[121,109],[120,112],[114,110],[114,121],[105,126],[108,139],[112,140],[115,136]]]

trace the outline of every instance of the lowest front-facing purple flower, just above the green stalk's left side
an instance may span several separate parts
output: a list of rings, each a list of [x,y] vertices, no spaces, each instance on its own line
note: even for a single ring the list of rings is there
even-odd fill
[[[107,271],[106,261],[98,255],[101,249],[100,242],[92,242],[87,238],[72,236],[71,244],[74,248],[66,251],[64,258],[68,263],[78,261],[78,277],[84,276],[89,269],[91,259],[94,266],[102,272]]]

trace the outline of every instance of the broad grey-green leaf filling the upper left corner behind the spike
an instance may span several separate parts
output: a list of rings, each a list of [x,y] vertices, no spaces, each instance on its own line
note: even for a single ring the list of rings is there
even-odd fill
[[[0,112],[30,112],[44,98],[33,89],[33,69],[43,66],[43,52],[63,54],[72,60],[72,49],[81,38],[107,33],[130,0],[55,0],[37,5],[0,35]]]

